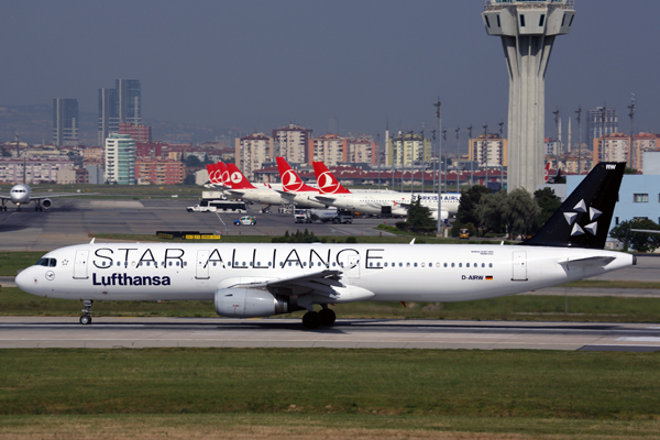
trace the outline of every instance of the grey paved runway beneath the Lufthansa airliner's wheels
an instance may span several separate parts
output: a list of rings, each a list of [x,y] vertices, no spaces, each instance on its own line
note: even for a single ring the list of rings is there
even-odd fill
[[[0,317],[0,348],[341,348],[660,351],[660,326],[339,319],[309,331],[299,319]]]

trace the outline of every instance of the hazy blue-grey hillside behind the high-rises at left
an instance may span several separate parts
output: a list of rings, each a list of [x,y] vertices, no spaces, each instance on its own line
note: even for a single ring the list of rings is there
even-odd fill
[[[80,143],[96,145],[98,116],[79,112]],[[219,129],[178,122],[144,120],[152,125],[153,139],[164,142],[201,143],[224,138],[244,135],[240,129]],[[16,133],[21,141],[32,144],[50,143],[53,140],[53,108],[51,106],[0,107],[0,142],[13,141]],[[230,143],[230,145],[233,143]]]

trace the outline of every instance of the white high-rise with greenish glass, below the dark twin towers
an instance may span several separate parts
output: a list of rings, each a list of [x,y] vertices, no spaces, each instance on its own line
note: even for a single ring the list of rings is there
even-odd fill
[[[106,183],[135,185],[135,140],[128,134],[106,139]]]

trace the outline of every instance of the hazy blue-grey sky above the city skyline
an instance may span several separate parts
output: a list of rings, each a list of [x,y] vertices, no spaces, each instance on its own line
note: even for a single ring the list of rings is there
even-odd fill
[[[0,0],[0,106],[77,98],[117,78],[142,81],[143,119],[324,134],[427,132],[506,120],[508,75],[483,0]],[[606,102],[628,132],[660,132],[660,1],[575,0],[546,88],[552,114]],[[574,124],[575,125],[575,124]],[[565,130],[565,125],[564,125]],[[455,135],[452,133],[452,135]],[[466,139],[466,132],[461,133]],[[576,140],[576,131],[574,134]]]

